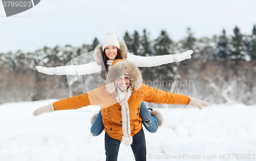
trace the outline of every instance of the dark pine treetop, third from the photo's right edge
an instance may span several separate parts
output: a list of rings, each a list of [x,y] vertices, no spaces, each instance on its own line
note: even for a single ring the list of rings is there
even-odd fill
[[[229,54],[229,47],[228,47],[228,38],[226,36],[226,31],[223,29],[222,35],[219,37],[219,42],[217,46],[217,57],[220,59],[227,59]]]

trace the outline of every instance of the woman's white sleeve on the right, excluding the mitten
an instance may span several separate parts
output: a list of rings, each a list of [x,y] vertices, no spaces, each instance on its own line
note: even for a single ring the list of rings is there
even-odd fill
[[[154,67],[162,64],[173,63],[175,55],[163,55],[155,57],[141,57],[135,56],[131,53],[127,53],[127,60],[133,62],[137,67]]]

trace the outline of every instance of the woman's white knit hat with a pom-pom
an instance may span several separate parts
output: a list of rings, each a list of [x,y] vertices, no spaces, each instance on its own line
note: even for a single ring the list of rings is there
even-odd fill
[[[104,50],[106,46],[116,46],[117,48],[120,48],[119,41],[115,35],[115,30],[113,29],[106,29],[106,38],[102,43],[102,50]]]

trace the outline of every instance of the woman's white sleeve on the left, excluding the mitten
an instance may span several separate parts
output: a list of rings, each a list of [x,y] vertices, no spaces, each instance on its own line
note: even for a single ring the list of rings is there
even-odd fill
[[[85,75],[101,71],[101,65],[96,62],[56,67],[56,75]]]

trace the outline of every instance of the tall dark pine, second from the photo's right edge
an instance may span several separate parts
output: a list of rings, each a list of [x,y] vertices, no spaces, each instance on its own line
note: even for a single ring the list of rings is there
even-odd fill
[[[240,33],[238,26],[233,30],[234,36],[232,37],[231,60],[238,63],[244,60],[243,55],[243,35]]]

